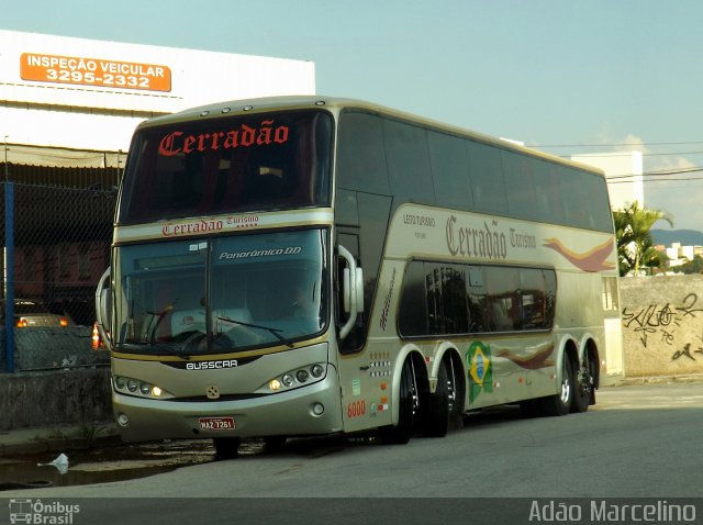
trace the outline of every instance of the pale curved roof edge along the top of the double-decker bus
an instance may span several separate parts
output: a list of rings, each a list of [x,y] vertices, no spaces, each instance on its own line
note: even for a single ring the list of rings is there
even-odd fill
[[[399,120],[412,122],[423,127],[431,127],[431,129],[439,130],[446,133],[469,137],[477,142],[490,144],[492,146],[495,146],[502,149],[513,150],[516,153],[521,153],[523,155],[529,155],[533,157],[538,157],[545,160],[549,160],[555,164],[572,166],[585,171],[591,171],[602,177],[604,176],[603,170],[600,168],[589,166],[582,163],[577,163],[573,160],[568,160],[561,157],[558,157],[556,155],[540,152],[539,149],[521,146],[520,144],[516,144],[514,142],[505,141],[491,135],[486,135],[486,134],[471,131],[465,127],[446,124],[440,121],[427,119],[413,113],[406,113],[400,110],[394,110],[381,104],[367,102],[364,100],[338,98],[338,97],[326,97],[326,96],[317,96],[317,94],[264,97],[264,98],[255,98],[255,99],[243,99],[243,100],[216,102],[208,105],[189,108],[187,110],[179,111],[177,113],[171,113],[168,115],[161,115],[161,116],[156,116],[154,119],[149,119],[147,121],[142,122],[137,126],[137,130],[152,127],[152,126],[176,124],[179,122],[192,122],[193,120],[198,120],[198,119],[234,116],[234,115],[246,114],[248,112],[259,113],[259,112],[281,110],[281,109],[286,111],[302,110],[302,109],[309,110],[314,108],[317,108],[317,109],[325,108],[335,113],[341,112],[343,109],[349,109],[349,108],[359,109],[359,110],[368,111],[371,113],[379,113],[379,114],[388,115],[390,118],[395,118]]]

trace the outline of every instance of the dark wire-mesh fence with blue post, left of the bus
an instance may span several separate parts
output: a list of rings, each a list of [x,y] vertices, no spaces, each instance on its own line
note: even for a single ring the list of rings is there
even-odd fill
[[[116,200],[114,187],[100,186],[94,189],[0,183],[0,216],[4,221],[0,231],[3,248],[0,371],[96,362],[91,346],[93,298],[110,260]],[[102,189],[105,186],[110,189]],[[18,314],[27,302],[38,303],[37,308],[65,319],[67,326],[48,326],[52,316],[42,320],[38,314],[35,324],[24,326]],[[3,329],[9,304],[15,310],[12,334]]]

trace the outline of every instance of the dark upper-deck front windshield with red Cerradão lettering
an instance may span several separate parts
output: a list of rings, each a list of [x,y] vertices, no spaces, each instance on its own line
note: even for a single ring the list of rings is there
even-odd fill
[[[137,131],[118,222],[330,205],[332,116],[258,113]]]

